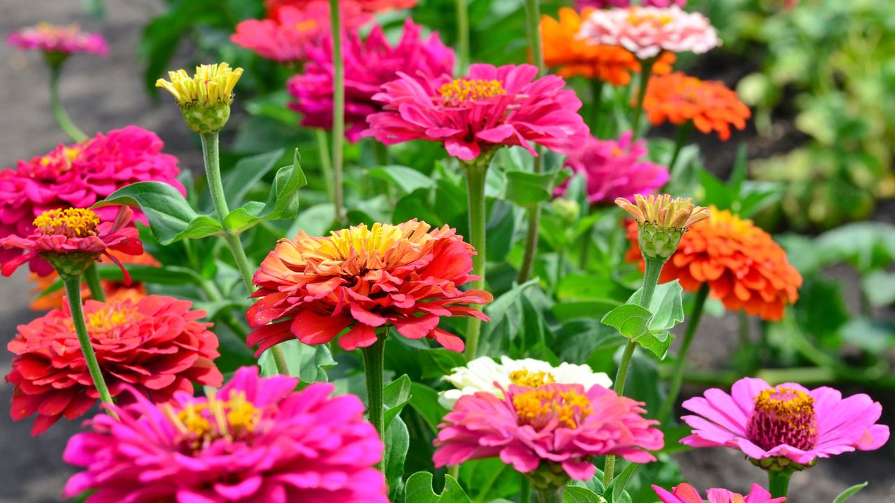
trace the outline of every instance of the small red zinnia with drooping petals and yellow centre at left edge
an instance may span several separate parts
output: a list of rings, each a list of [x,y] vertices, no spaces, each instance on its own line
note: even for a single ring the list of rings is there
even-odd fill
[[[105,255],[121,266],[110,253],[112,250],[140,255],[143,243],[137,237],[137,229],[131,224],[133,212],[120,207],[114,222],[99,222],[99,216],[90,209],[50,209],[34,219],[35,231],[26,236],[8,235],[0,238],[0,246],[23,250],[3,264],[3,275],[12,276],[15,269],[30,260],[47,260],[60,276],[80,275],[90,264]],[[122,267],[124,282],[131,277]],[[36,270],[38,274],[40,270]]]

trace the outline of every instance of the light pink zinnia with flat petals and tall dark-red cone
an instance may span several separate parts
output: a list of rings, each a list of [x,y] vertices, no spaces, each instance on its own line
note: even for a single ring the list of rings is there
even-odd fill
[[[681,418],[693,428],[682,444],[734,448],[763,468],[772,469],[776,457],[811,465],[818,457],[878,449],[889,439],[889,427],[876,424],[879,402],[864,394],[843,399],[827,387],[789,382],[774,388],[762,379],[743,378],[729,395],[712,388],[684,402],[684,408],[698,415]]]

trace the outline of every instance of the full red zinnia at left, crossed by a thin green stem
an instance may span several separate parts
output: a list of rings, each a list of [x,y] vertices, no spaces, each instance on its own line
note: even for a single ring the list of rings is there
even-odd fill
[[[167,402],[175,391],[192,391],[191,381],[221,385],[223,377],[212,362],[219,355],[217,337],[209,332],[210,323],[198,321],[205,311],[190,311],[191,305],[157,295],[136,302],[84,304],[90,345],[109,393],[121,395],[119,404],[133,401],[122,395],[127,386],[152,401]],[[74,419],[86,413],[97,401],[67,305],[20,325],[7,347],[16,354],[6,376],[15,386],[13,419],[37,413],[32,435],[63,416]]]

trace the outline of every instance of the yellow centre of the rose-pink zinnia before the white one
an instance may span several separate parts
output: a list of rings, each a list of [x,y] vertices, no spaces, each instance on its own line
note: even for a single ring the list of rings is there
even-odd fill
[[[591,401],[577,391],[539,388],[513,396],[513,406],[520,424],[537,430],[557,423],[559,427],[577,428],[593,412]]]

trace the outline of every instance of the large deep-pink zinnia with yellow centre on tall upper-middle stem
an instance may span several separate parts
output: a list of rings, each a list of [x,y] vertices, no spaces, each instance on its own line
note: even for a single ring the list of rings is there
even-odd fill
[[[386,145],[411,140],[443,142],[464,161],[501,145],[518,145],[536,155],[529,141],[567,152],[583,140],[587,125],[575,91],[556,75],[534,80],[531,64],[473,64],[466,77],[418,81],[400,78],[382,86],[373,99],[385,112],[370,115],[371,134]]]

